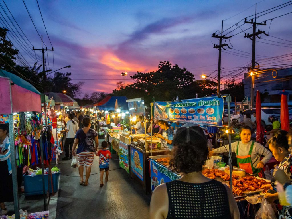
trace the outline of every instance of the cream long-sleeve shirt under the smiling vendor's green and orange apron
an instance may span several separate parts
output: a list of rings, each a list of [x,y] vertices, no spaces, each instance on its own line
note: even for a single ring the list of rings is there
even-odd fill
[[[249,141],[247,144],[243,144],[242,141],[239,141],[238,145],[238,155],[239,156],[246,156],[251,148],[252,141]],[[231,143],[231,150],[232,152],[236,153],[238,141]],[[229,145],[224,145],[222,147],[216,148],[213,150],[214,153],[223,153],[229,152]],[[271,157],[272,153],[267,150],[263,145],[259,144],[258,142],[254,142],[253,150],[251,152],[251,161],[254,167],[261,161],[260,156],[263,155],[263,163],[267,163]]]

